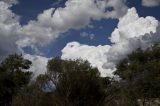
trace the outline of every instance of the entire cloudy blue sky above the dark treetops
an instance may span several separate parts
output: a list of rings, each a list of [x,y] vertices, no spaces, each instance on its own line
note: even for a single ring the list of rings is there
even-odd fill
[[[54,57],[88,60],[102,76],[160,42],[160,0],[0,0],[0,60],[22,53],[35,76]]]

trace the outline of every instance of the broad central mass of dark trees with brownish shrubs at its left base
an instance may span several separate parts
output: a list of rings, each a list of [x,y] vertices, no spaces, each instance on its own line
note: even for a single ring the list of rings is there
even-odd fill
[[[31,88],[29,92],[24,89],[18,94],[13,106],[104,106],[109,100],[110,79],[100,77],[87,61],[54,58],[47,68],[45,75],[26,88]]]

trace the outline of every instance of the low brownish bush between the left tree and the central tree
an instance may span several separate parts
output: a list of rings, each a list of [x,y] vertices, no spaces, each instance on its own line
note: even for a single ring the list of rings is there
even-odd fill
[[[45,93],[34,83],[26,86],[13,98],[12,106],[47,106],[49,101],[45,100]],[[50,98],[51,99],[51,98]]]

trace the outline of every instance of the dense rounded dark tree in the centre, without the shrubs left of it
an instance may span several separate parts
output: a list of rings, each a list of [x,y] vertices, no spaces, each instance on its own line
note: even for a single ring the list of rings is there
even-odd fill
[[[55,64],[56,63],[56,64]],[[58,64],[57,64],[58,63]],[[51,66],[61,67],[52,68]],[[48,71],[57,73],[50,77],[56,85],[55,97],[61,100],[59,106],[101,106],[105,99],[105,82],[96,68],[87,61],[53,59],[48,63]]]

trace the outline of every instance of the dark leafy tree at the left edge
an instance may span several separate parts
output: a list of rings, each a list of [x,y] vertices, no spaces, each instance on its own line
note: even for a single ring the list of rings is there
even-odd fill
[[[0,64],[0,106],[8,106],[12,97],[26,84],[28,84],[31,72],[31,62],[22,55],[9,55]]]

